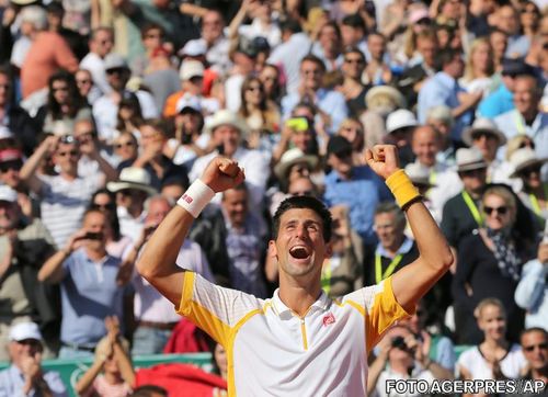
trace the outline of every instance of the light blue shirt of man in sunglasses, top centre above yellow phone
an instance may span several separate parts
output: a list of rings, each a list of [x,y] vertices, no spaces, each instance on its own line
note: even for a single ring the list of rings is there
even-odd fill
[[[289,93],[282,99],[283,118],[290,117],[293,109],[300,102],[298,92]],[[331,125],[328,128],[330,134],[339,129],[339,125],[349,116],[346,100],[340,92],[333,90],[319,89],[316,91],[315,104],[331,117]]]

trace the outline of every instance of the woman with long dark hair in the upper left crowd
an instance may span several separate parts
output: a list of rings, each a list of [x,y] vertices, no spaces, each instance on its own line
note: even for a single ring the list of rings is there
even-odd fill
[[[71,132],[76,120],[92,117],[88,100],[80,95],[73,73],[66,70],[55,72],[48,79],[47,88],[47,103],[39,107],[35,117],[38,131],[58,134],[58,128],[64,128]]]

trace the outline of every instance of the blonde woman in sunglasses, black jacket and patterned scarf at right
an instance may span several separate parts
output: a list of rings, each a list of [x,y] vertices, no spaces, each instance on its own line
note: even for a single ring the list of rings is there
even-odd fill
[[[530,258],[528,243],[514,229],[516,198],[507,188],[489,188],[481,200],[483,227],[463,239],[453,280],[455,321],[459,343],[479,343],[481,332],[473,320],[478,303],[500,299],[506,308],[509,337],[517,341],[524,313],[514,302],[523,263]]]

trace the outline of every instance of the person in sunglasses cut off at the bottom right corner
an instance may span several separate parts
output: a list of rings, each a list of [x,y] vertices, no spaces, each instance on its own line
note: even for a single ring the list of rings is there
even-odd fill
[[[527,328],[522,332],[522,350],[528,371],[524,379],[543,381],[548,384],[548,332],[543,328]]]

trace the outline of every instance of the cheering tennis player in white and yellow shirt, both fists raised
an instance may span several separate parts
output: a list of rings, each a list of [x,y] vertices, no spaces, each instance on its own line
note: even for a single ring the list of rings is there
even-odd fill
[[[225,347],[228,392],[236,396],[366,395],[367,354],[449,269],[453,257],[390,145],[368,150],[416,237],[419,258],[377,285],[331,300],[320,285],[331,253],[331,216],[313,197],[284,201],[274,216],[269,256],[279,266],[270,299],[222,288],[175,264],[192,222],[216,192],[244,179],[238,163],[217,157],[160,224],[137,269],[198,327]]]

